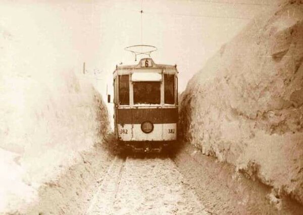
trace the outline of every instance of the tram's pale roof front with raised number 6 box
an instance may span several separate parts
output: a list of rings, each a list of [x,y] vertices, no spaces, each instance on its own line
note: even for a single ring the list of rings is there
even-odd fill
[[[145,66],[145,63],[148,66]],[[178,74],[177,65],[168,64],[156,64],[152,58],[142,58],[138,64],[133,65],[116,65],[114,71],[114,76],[116,75],[128,75],[136,72],[154,72],[154,73],[164,73],[164,74]]]

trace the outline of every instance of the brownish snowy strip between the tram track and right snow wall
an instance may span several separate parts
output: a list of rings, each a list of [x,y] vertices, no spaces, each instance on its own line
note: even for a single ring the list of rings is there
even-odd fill
[[[234,165],[203,155],[189,143],[173,161],[211,214],[302,214],[302,204],[272,193],[272,187],[250,180]]]

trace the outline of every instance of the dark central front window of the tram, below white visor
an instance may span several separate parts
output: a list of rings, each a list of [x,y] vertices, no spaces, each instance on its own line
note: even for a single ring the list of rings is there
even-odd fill
[[[134,104],[160,104],[160,82],[133,82]]]

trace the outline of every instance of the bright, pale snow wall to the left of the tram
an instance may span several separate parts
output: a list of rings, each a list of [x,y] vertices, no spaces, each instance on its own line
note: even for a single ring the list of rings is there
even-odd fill
[[[35,201],[39,186],[101,142],[109,126],[81,66],[61,63],[69,50],[27,42],[0,28],[0,213]]]

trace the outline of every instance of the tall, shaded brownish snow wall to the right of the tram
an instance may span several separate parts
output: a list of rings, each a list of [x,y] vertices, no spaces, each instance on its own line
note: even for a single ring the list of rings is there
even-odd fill
[[[303,1],[252,20],[181,95],[183,135],[303,203]]]

